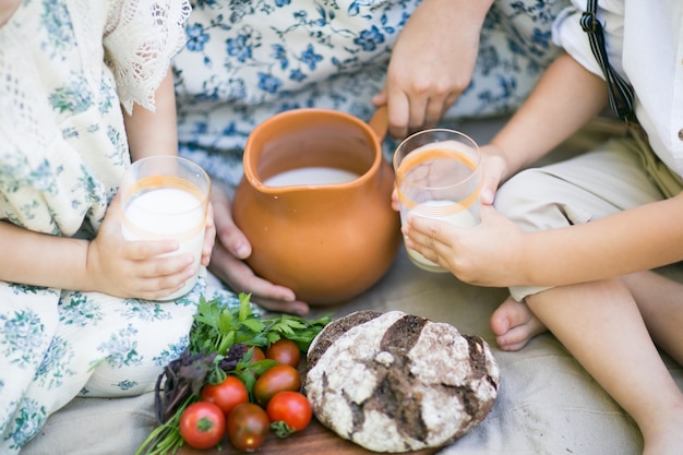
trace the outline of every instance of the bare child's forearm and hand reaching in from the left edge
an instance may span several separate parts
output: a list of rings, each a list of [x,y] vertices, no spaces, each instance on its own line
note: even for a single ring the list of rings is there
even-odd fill
[[[194,273],[192,256],[156,258],[177,242],[127,242],[117,196],[96,241],[57,237],[0,221],[0,280],[118,297],[156,299],[179,289]]]

